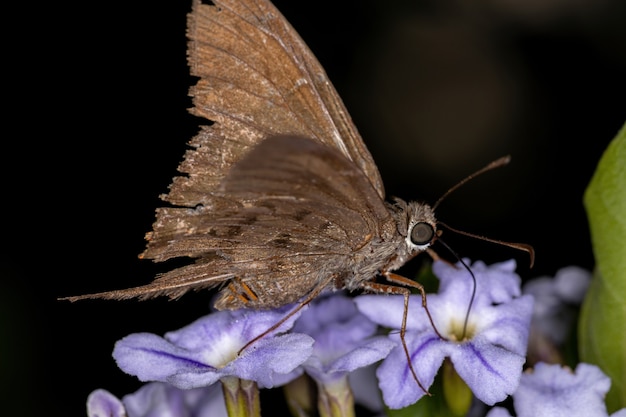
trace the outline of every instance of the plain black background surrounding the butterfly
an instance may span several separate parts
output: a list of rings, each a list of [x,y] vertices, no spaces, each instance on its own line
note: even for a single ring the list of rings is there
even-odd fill
[[[626,119],[625,4],[514,3],[276,1],[335,83],[388,195],[434,202],[511,154],[438,216],[531,243],[535,268],[521,252],[449,232],[446,242],[472,259],[515,257],[524,278],[591,269],[582,196]],[[186,111],[189,8],[48,3],[7,14],[19,29],[4,41],[16,94],[5,115],[0,372],[14,414],[80,416],[95,388],[133,392],[140,383],[115,366],[114,342],[207,311],[207,294],[55,301],[163,271],[137,254],[201,122]]]

